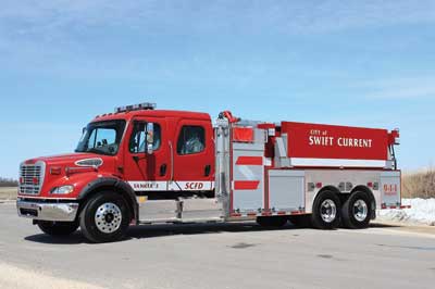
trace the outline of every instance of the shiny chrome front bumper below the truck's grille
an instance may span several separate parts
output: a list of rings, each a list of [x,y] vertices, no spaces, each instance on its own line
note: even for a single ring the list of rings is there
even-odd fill
[[[18,216],[40,219],[73,222],[77,215],[78,203],[39,203],[16,201]]]

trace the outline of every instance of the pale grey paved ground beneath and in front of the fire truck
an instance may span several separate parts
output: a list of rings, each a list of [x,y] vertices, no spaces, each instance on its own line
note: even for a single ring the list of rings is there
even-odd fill
[[[89,244],[40,234],[12,203],[0,228],[0,288],[435,288],[435,235],[406,228],[142,226]]]

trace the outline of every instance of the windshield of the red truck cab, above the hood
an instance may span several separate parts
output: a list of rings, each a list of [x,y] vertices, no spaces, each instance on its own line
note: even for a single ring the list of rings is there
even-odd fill
[[[114,155],[121,143],[125,121],[90,123],[84,129],[75,152]]]

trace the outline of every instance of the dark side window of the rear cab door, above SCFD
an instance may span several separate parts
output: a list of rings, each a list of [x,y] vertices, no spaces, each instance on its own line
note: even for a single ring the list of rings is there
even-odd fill
[[[183,126],[177,141],[178,154],[192,154],[206,148],[206,130],[202,126]]]

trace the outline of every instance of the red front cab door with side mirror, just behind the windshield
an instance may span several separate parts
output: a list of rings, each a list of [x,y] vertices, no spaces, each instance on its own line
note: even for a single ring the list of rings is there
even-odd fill
[[[153,124],[152,153],[147,153],[147,124]],[[136,117],[126,135],[124,177],[135,191],[165,191],[170,179],[170,148],[165,118]]]

